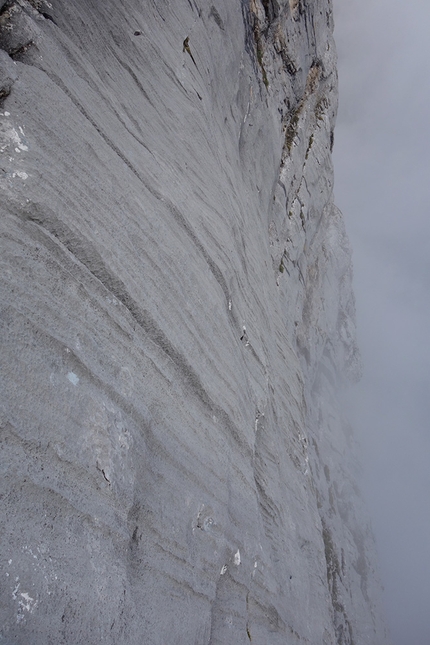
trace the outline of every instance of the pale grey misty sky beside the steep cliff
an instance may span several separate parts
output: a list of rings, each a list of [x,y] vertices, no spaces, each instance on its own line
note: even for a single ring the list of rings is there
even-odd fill
[[[430,644],[430,3],[335,0],[335,196],[354,250],[363,447],[394,645]]]

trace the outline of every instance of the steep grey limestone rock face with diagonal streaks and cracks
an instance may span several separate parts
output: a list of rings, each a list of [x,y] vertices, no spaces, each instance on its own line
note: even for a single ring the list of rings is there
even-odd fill
[[[0,2],[7,645],[383,645],[330,0]]]

